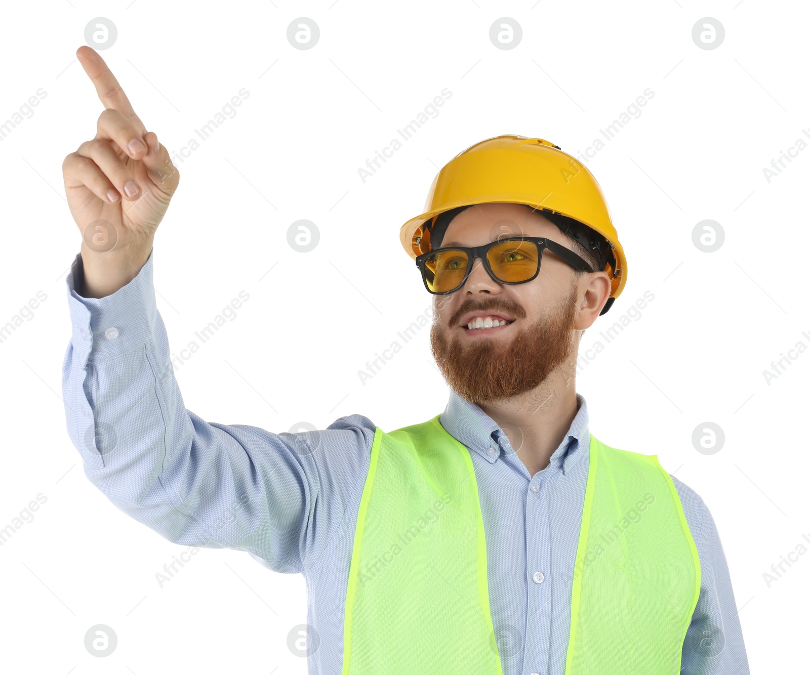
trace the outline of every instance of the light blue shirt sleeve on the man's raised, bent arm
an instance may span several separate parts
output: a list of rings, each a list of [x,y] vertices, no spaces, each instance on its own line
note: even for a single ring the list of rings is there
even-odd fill
[[[362,489],[376,427],[351,415],[326,430],[272,433],[186,410],[156,308],[153,256],[104,298],[76,292],[80,254],[67,277],[62,393],[84,473],[168,541],[244,550],[274,571],[305,572]]]

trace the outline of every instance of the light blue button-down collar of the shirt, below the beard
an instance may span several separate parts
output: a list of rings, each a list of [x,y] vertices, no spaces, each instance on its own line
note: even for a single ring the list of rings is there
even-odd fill
[[[588,406],[582,394],[577,394],[577,404],[579,409],[568,433],[549,461],[550,466],[561,468],[562,473],[567,473],[573,462],[582,456],[583,453],[578,451],[582,448],[583,442],[586,448],[590,447]],[[447,407],[439,417],[439,422],[454,439],[478,452],[490,464],[498,460],[501,452],[513,452],[509,438],[501,427],[481,410],[480,406],[467,401],[454,389],[450,389],[450,400],[447,401]]]

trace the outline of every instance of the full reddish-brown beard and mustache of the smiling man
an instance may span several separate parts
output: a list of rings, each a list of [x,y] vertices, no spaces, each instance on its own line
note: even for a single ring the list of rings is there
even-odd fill
[[[559,307],[520,329],[505,346],[496,344],[501,338],[484,338],[463,345],[454,337],[448,343],[444,330],[434,323],[430,329],[433,358],[447,384],[472,403],[497,401],[529,392],[572,354],[576,300],[577,289],[573,286],[569,297]],[[488,296],[483,301],[465,301],[450,325],[458,325],[463,314],[479,309],[501,309],[516,319],[526,316],[526,311],[517,304]]]

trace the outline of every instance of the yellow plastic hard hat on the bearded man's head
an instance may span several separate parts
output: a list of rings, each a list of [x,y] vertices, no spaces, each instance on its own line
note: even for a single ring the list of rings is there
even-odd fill
[[[604,271],[611,278],[607,312],[627,281],[627,262],[608,203],[594,176],[582,162],[543,138],[496,136],[475,143],[446,163],[430,186],[424,214],[399,230],[405,252],[416,259],[430,248],[435,216],[458,206],[511,202],[567,216],[599,232],[611,247],[616,265]]]

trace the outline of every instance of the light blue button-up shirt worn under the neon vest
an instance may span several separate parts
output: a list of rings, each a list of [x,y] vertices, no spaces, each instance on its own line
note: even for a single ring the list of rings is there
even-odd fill
[[[67,277],[73,334],[62,390],[84,473],[119,509],[169,541],[244,550],[271,570],[303,574],[307,622],[319,638],[309,673],[337,675],[352,542],[376,427],[353,414],[326,430],[276,434],[206,422],[186,410],[156,308],[153,258],[154,252],[132,282],[105,298],[75,292],[79,255]],[[534,475],[478,405],[451,391],[441,414],[442,427],[469,449],[475,465],[504,675],[565,672],[568,579],[590,448],[588,408],[582,395],[577,401],[568,434]],[[681,673],[748,675],[714,520],[691,488],[672,481],[701,562]]]

